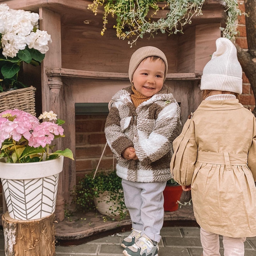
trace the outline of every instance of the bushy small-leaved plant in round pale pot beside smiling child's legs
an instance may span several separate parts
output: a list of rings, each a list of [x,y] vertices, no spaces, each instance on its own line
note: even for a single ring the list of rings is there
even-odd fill
[[[103,215],[119,216],[123,220],[127,214],[124,204],[122,179],[116,171],[86,174],[76,187],[76,205],[86,211],[97,210]]]

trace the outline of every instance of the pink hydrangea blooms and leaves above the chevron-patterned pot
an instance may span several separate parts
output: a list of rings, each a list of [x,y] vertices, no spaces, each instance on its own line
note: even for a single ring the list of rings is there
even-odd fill
[[[8,163],[29,163],[46,161],[65,156],[74,160],[69,148],[52,152],[52,141],[64,137],[60,124],[65,121],[57,119],[52,111],[44,112],[44,122],[19,109],[0,113],[0,154]],[[56,120],[56,123],[54,123]],[[3,146],[4,143],[4,146]]]

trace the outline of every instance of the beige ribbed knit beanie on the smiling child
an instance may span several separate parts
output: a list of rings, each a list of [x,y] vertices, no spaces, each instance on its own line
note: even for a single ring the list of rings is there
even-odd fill
[[[167,70],[168,70],[168,65],[167,65],[167,59],[164,55],[164,52],[159,50],[156,47],[153,46],[144,46],[136,50],[131,57],[130,64],[129,64],[129,79],[132,83],[132,76],[133,73],[135,72],[136,68],[140,65],[140,62],[147,57],[151,56],[156,56],[161,58],[164,61],[165,64],[165,71],[164,71],[164,80],[166,78]]]

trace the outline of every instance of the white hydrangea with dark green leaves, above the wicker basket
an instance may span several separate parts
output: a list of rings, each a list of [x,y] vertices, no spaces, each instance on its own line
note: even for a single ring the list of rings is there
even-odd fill
[[[0,4],[0,92],[27,87],[18,80],[23,62],[40,65],[51,36],[38,29],[38,13],[13,10]]]

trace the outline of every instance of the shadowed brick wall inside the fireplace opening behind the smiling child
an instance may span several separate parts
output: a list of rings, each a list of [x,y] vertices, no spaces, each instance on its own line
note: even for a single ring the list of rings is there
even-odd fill
[[[76,177],[94,171],[106,144],[107,115],[76,115]],[[98,170],[113,168],[113,153],[107,146]]]

